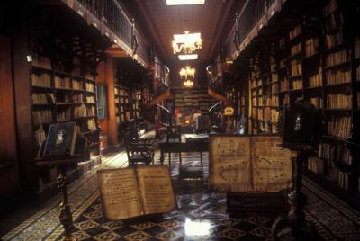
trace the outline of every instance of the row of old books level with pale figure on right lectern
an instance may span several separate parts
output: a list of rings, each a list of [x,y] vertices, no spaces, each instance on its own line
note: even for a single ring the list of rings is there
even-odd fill
[[[350,138],[351,117],[332,116],[328,121],[328,134],[336,138]]]

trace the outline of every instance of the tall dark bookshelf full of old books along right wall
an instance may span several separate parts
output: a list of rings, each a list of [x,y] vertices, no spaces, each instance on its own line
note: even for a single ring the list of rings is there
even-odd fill
[[[249,134],[276,134],[279,110],[297,100],[320,109],[324,130],[305,173],[359,208],[360,31],[350,22],[359,16],[350,4],[338,3],[302,13],[249,50],[241,81],[249,83]],[[227,85],[230,98],[232,88]]]

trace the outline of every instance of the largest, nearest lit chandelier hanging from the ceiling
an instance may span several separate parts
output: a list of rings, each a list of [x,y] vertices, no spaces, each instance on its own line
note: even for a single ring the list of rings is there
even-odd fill
[[[173,49],[174,54],[183,52],[184,55],[191,54],[196,49],[202,49],[201,33],[184,31],[184,34],[174,34]]]

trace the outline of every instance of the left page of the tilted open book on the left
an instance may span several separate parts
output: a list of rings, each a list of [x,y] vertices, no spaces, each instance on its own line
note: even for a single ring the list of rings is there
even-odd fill
[[[128,219],[143,214],[136,173],[132,168],[98,172],[106,219]]]

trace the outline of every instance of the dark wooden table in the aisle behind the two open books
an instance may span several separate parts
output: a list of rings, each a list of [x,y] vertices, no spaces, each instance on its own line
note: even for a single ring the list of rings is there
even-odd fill
[[[181,141],[169,139],[166,137],[159,141],[160,148],[160,163],[164,163],[164,153],[169,155],[169,165],[171,165],[171,153],[182,152],[200,152],[200,161],[202,164],[202,152],[209,150],[209,135],[205,134],[182,134]],[[181,165],[181,156],[180,156]]]

